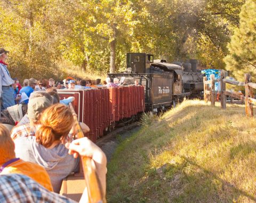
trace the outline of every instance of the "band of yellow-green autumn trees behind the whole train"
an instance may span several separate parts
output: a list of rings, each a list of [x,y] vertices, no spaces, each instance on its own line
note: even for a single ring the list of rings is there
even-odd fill
[[[13,76],[61,75],[60,64],[80,71],[124,71],[125,53],[167,61],[197,58],[225,66],[227,43],[244,0],[3,0],[0,46],[9,49]]]

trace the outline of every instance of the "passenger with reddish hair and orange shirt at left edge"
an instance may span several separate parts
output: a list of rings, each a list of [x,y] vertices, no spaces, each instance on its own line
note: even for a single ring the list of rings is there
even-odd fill
[[[31,162],[17,158],[14,152],[14,142],[10,137],[9,131],[4,125],[0,124],[0,175],[19,173],[27,175],[37,183],[43,185],[46,189],[53,191],[50,176],[46,170]],[[2,202],[2,201],[1,201]]]

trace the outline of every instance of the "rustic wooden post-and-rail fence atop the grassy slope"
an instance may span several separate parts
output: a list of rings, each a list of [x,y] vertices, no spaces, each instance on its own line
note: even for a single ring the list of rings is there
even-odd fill
[[[215,82],[220,82],[221,91],[215,91]],[[245,96],[235,92],[226,91],[226,83],[236,86],[244,86]],[[210,86],[211,84],[211,86]],[[216,96],[220,96],[221,108],[226,109],[227,96],[231,98],[241,99],[245,103],[245,113],[247,116],[253,116],[253,105],[256,105],[253,89],[256,89],[256,83],[251,82],[251,75],[244,74],[244,82],[229,80],[226,78],[226,71],[221,71],[220,79],[215,80],[214,74],[210,75],[210,80],[204,77],[204,100],[211,101],[211,105],[215,106]]]

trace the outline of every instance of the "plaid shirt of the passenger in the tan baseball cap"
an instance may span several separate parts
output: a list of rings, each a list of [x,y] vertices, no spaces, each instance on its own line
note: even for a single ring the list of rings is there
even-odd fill
[[[12,140],[17,139],[18,137],[28,137],[35,136],[36,127],[30,128],[30,124],[27,123],[25,125],[16,126],[12,129],[11,138]]]

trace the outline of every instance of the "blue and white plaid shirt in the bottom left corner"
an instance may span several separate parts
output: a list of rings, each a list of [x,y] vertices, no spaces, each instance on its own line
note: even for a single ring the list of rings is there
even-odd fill
[[[75,202],[21,174],[0,175],[0,202]]]

